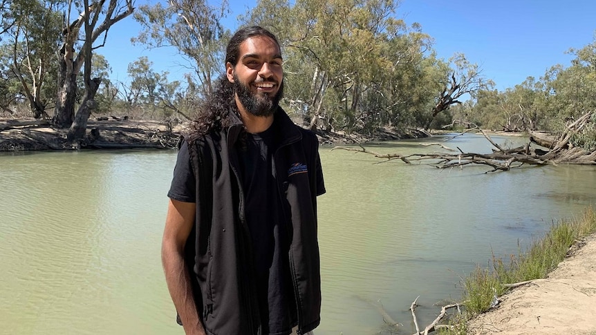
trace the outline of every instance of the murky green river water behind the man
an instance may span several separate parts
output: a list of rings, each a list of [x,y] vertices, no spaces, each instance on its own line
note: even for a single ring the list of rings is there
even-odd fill
[[[448,145],[490,151],[475,135]],[[416,296],[419,323],[429,323],[433,304],[459,298],[458,280],[476,263],[516,253],[518,242],[596,203],[590,166],[485,174],[374,164],[328,147],[321,155],[317,335],[378,334],[382,317],[369,303],[378,300],[411,334]],[[173,151],[0,155],[0,334],[183,334],[160,265],[175,160]]]

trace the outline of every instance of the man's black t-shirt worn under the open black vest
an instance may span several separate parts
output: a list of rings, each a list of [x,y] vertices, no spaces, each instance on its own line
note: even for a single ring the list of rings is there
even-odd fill
[[[288,222],[283,217],[281,195],[274,179],[274,128],[259,134],[243,133],[233,152],[240,165],[263,334],[286,335],[297,324],[297,312],[288,260]],[[178,152],[168,197],[196,202],[186,142]]]

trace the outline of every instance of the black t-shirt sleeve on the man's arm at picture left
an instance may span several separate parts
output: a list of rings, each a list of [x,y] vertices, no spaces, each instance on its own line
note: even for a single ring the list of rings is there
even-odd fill
[[[188,146],[186,141],[183,141],[180,146],[174,167],[174,178],[171,180],[167,196],[182,202],[196,202],[196,183]]]

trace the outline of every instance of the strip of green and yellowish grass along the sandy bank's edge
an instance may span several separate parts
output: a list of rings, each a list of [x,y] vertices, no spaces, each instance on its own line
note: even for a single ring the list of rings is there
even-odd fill
[[[467,334],[467,320],[489,310],[495,294],[502,296],[510,289],[507,284],[546,278],[575,242],[592,233],[596,233],[596,211],[588,207],[581,218],[553,224],[544,238],[525,251],[520,248],[517,256],[511,255],[509,260],[493,256],[492,269],[476,267],[462,280],[465,313],[451,321],[454,327],[439,334]]]

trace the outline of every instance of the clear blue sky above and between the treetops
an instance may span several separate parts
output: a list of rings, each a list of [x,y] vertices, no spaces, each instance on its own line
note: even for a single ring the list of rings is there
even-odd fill
[[[157,1],[136,0],[136,5]],[[239,28],[236,16],[255,3],[230,0],[232,14],[225,26],[232,31]],[[503,90],[528,76],[538,79],[555,64],[569,66],[573,57],[566,50],[594,39],[596,0],[403,0],[397,16],[409,25],[420,23],[422,31],[434,38],[438,57],[448,59],[463,52]],[[128,17],[112,28],[106,47],[97,50],[109,61],[112,79],[126,82],[128,64],[142,56],[153,61],[154,70],[167,70],[170,80],[188,72],[179,65],[183,61],[175,50],[131,46],[130,39],[139,29]]]

